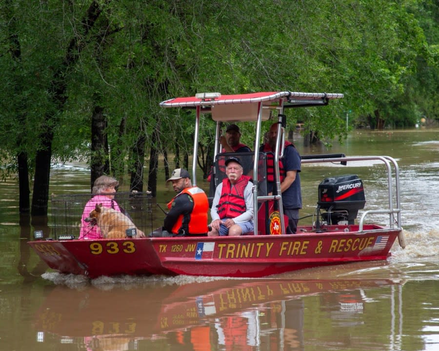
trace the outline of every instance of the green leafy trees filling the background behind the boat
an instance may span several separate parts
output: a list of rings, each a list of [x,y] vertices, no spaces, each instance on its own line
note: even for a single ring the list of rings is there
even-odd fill
[[[323,140],[345,137],[347,111],[372,126],[438,120],[438,15],[433,0],[4,0],[2,174],[24,164],[26,182],[41,172],[44,183],[45,155],[106,164],[120,177],[141,172],[148,150],[187,166],[195,117],[159,102],[203,91],[344,93],[324,108],[287,111],[290,125],[304,122]],[[104,138],[92,151],[97,111]],[[206,172],[214,128],[201,121]]]

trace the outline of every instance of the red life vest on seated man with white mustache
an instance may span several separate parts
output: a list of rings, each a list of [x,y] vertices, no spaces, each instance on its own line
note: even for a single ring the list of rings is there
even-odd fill
[[[235,218],[245,212],[247,207],[245,206],[244,189],[249,180],[249,176],[241,175],[233,187],[229,178],[222,180],[222,191],[217,211],[221,219]]]

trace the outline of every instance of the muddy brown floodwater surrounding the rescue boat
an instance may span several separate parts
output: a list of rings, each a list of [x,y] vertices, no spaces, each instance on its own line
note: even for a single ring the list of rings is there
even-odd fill
[[[304,149],[295,143],[301,154],[326,152],[321,145]],[[26,242],[35,228],[48,224],[32,219],[29,227],[31,219],[17,214],[16,181],[0,183],[2,349],[437,350],[438,130],[354,132],[330,152],[398,160],[407,246],[395,244],[387,262],[307,269],[271,279],[89,280],[44,273],[46,267]],[[341,174],[363,180],[366,206],[387,201],[382,165],[304,165],[301,216],[315,211],[318,184]],[[157,201],[164,204],[174,192],[164,179],[159,183]],[[206,183],[199,185],[207,189]],[[51,172],[51,193],[83,191],[89,191],[84,165]],[[160,225],[159,209],[155,216]],[[383,216],[382,223],[387,221]]]

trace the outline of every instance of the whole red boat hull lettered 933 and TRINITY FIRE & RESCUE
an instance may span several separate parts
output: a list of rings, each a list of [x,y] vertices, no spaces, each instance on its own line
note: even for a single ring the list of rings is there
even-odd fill
[[[32,241],[61,273],[264,277],[303,268],[386,260],[400,229],[366,225],[302,227],[294,235]]]

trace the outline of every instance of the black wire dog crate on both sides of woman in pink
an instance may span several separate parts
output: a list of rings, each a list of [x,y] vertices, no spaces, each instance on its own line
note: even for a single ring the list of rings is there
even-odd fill
[[[82,213],[92,197],[91,194],[52,195],[50,227],[53,239],[79,238]],[[152,231],[152,196],[149,193],[118,192],[114,201],[138,229],[145,234]]]

